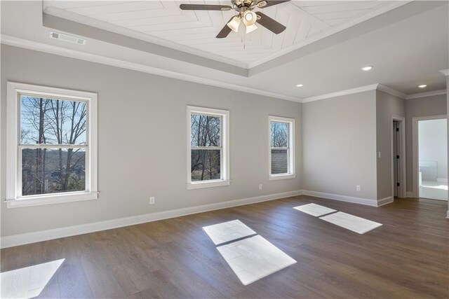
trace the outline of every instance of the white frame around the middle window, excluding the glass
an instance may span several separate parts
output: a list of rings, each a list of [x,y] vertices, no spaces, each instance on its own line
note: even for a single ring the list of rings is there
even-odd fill
[[[192,181],[192,145],[191,145],[191,116],[203,114],[206,116],[220,117],[220,174],[221,179],[208,181]],[[194,148],[193,148],[194,149]],[[218,148],[211,148],[218,149]],[[229,111],[210,109],[197,106],[187,106],[187,189],[209,188],[227,186],[229,179]]]

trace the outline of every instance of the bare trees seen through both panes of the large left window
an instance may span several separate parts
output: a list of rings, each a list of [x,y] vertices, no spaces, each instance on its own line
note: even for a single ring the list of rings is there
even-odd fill
[[[22,196],[86,190],[86,102],[20,96]]]

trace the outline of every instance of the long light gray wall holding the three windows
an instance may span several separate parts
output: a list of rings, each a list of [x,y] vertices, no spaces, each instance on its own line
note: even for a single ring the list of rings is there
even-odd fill
[[[98,92],[98,200],[6,209],[6,81]],[[230,111],[230,186],[187,190],[187,105]],[[1,236],[302,188],[295,102],[2,45],[1,113]],[[296,120],[296,179],[268,180],[269,115]]]

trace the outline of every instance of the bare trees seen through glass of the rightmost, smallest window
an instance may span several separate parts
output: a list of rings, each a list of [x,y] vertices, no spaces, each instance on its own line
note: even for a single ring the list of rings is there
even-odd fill
[[[288,173],[288,127],[288,123],[271,123],[272,174]]]

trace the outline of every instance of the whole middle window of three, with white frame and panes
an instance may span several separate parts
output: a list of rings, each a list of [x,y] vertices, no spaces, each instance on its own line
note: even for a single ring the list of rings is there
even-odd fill
[[[229,185],[229,111],[187,107],[187,188]]]

